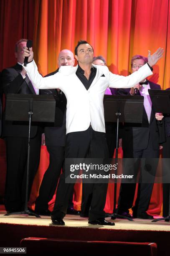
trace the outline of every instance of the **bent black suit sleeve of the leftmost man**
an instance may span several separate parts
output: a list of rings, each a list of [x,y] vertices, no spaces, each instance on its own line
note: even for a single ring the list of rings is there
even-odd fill
[[[22,86],[25,80],[23,79],[21,74],[18,74],[15,77],[12,69],[4,69],[2,72],[2,85],[3,85],[3,92],[5,95],[7,93],[18,93],[20,87]]]

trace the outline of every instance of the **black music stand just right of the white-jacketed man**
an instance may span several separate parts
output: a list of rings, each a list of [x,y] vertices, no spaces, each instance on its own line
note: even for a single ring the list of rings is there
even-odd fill
[[[104,118],[105,122],[117,123],[116,132],[116,157],[115,162],[118,164],[118,138],[119,122],[124,123],[142,123],[143,116],[143,96],[132,95],[104,95]],[[117,169],[115,170],[117,175]],[[134,221],[131,218],[116,213],[116,194],[117,180],[114,183],[114,206],[112,220],[116,218]]]

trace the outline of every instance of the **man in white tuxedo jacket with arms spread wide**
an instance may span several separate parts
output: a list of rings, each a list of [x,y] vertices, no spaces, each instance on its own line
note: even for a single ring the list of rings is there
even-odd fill
[[[58,73],[42,77],[33,61],[33,51],[25,48],[24,56],[29,63],[25,67],[33,85],[38,89],[61,89],[67,98],[66,111],[66,158],[107,158],[109,156],[105,138],[103,98],[107,87],[129,88],[152,74],[152,66],[161,58],[163,49],[148,55],[148,64],[128,77],[109,72],[106,66],[95,66],[93,48],[86,41],[79,41],[75,48],[76,67],[61,67]],[[61,174],[56,202],[51,214],[52,223],[65,225],[69,195],[74,184],[65,183]],[[104,219],[107,184],[94,184],[89,224],[114,225]]]

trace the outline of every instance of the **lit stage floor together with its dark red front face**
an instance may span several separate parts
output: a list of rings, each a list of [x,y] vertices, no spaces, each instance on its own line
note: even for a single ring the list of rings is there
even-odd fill
[[[23,238],[53,238],[66,241],[121,241],[156,243],[157,256],[169,256],[170,223],[134,219],[134,221],[116,219],[115,226],[88,224],[88,218],[66,215],[65,226],[51,224],[50,216],[36,218],[28,215],[4,216],[0,210],[0,247],[18,247]],[[111,219],[108,217],[107,220]],[[129,255],[128,255],[129,256]],[[131,253],[133,256],[133,253]],[[136,256],[136,255],[135,255]]]

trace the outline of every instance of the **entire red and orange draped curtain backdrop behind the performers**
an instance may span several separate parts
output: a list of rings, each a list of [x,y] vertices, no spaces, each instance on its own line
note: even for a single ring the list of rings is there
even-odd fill
[[[61,49],[74,51],[82,39],[94,47],[94,55],[105,57],[112,72],[123,75],[131,71],[133,55],[163,47],[150,79],[162,89],[170,87],[169,0],[1,0],[0,14],[0,71],[15,64],[20,38],[33,39],[43,75],[57,68]]]

